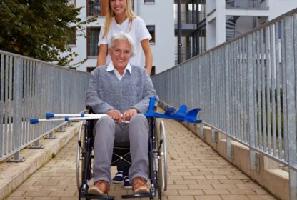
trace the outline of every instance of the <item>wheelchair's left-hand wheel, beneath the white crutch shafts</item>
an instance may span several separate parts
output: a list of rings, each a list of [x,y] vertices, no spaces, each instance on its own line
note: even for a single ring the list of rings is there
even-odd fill
[[[76,185],[77,185],[77,191],[80,190],[81,186],[81,180],[84,179],[84,156],[81,154],[82,149],[84,149],[84,137],[85,137],[85,122],[82,121],[81,125],[79,126],[79,137],[78,141],[80,142],[80,145],[77,145],[77,151],[76,151]],[[80,166],[81,164],[81,166]]]

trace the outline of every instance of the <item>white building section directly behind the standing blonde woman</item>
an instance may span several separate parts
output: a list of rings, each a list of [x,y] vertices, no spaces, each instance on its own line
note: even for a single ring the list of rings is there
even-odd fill
[[[132,0],[136,15],[146,22],[152,39],[153,71],[160,73],[174,66],[174,9],[173,0]],[[81,7],[80,18],[98,16],[96,21],[87,24],[84,29],[76,31],[69,46],[79,56],[74,58],[71,66],[80,71],[91,71],[96,67],[99,32],[104,24],[107,0],[69,0],[69,4]],[[79,62],[84,61],[83,64]],[[141,56],[144,66],[144,54]]]

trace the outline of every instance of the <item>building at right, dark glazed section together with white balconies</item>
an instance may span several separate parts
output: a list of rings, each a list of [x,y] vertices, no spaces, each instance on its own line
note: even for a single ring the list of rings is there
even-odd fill
[[[178,1],[181,2],[182,61],[297,7],[296,0],[175,0],[176,40]],[[176,64],[177,53],[176,50]]]

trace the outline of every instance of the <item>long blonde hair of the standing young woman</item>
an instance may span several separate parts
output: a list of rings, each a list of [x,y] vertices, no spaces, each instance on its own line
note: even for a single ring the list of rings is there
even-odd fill
[[[129,31],[131,29],[132,20],[136,18],[136,14],[132,10],[131,0],[126,0],[126,16],[129,19]],[[105,38],[106,35],[109,33],[109,26],[111,26],[111,19],[116,17],[114,11],[111,9],[111,0],[109,0],[109,4],[107,6],[107,13],[105,18],[105,25],[104,25],[104,34],[102,38]]]

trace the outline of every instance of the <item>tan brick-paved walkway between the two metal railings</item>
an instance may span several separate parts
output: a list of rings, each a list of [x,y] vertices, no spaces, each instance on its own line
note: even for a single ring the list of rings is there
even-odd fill
[[[210,146],[176,121],[164,120],[168,149],[168,189],[165,200],[272,200],[261,186],[216,154]],[[112,169],[113,174],[115,169]],[[131,190],[112,185],[121,199]],[[7,200],[78,199],[76,137],[54,159],[19,186]]]

